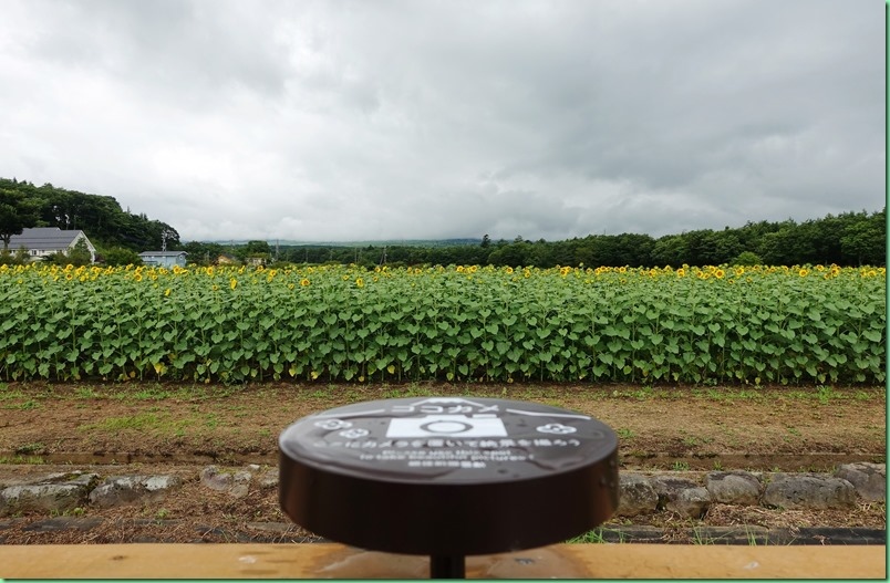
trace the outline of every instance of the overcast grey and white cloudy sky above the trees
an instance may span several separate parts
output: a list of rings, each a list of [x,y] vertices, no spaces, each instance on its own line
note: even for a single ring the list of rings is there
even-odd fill
[[[183,241],[659,237],[886,201],[882,0],[0,8],[0,176]]]

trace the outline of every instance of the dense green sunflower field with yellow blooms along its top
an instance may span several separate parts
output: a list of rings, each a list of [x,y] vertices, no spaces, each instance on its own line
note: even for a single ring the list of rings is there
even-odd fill
[[[0,378],[882,384],[884,268],[0,267]]]

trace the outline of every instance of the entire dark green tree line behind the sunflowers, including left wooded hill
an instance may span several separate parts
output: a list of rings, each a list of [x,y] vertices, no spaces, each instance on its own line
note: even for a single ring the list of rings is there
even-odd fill
[[[247,244],[180,242],[179,233],[144,214],[124,210],[114,197],[66,190],[15,178],[0,178],[0,241],[28,227],[83,230],[111,264],[137,263],[136,253],[158,250],[188,252],[195,263],[216,263],[220,257],[266,263],[355,263],[376,266],[494,264],[588,267],[663,267],[718,264],[884,266],[887,207],[880,211],[850,211],[796,222],[747,222],[739,228],[698,229],[653,238],[649,235],[590,235],[560,241],[491,240],[412,244],[307,244],[272,248],[267,241]],[[293,233],[299,237],[300,233]],[[15,250],[10,249],[9,252]]]

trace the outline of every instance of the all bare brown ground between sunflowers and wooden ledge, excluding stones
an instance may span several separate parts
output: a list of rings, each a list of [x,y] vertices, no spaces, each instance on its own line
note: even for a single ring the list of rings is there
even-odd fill
[[[311,537],[281,514],[275,488],[232,499],[201,488],[200,469],[208,464],[273,468],[278,435],[300,417],[360,400],[432,395],[529,400],[592,415],[619,435],[623,471],[830,471],[838,464],[886,460],[883,388],[0,384],[0,483],[55,465],[93,467],[102,476],[184,478],[163,504],[85,508],[79,518],[96,519],[85,530],[29,531],[46,517],[15,517],[0,523],[0,537],[6,543]],[[690,527],[687,520],[659,514],[633,524],[667,531]],[[860,504],[852,512],[717,504],[701,523],[882,529],[886,518],[882,503]]]

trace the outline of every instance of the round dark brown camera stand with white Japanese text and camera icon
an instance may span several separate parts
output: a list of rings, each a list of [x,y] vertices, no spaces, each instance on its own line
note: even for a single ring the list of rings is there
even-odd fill
[[[615,434],[534,403],[359,403],[299,419],[279,448],[279,501],[293,522],[362,549],[428,555],[434,579],[464,577],[466,555],[562,542],[618,507]]]

